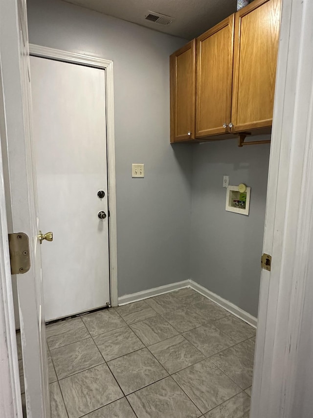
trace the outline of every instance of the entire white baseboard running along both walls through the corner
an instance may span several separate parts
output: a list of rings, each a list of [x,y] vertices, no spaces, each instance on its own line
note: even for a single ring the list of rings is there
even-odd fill
[[[183,280],[181,282],[171,283],[165,286],[155,287],[154,289],[143,290],[142,292],[133,293],[131,295],[120,296],[118,298],[118,306],[126,305],[127,303],[137,302],[138,300],[147,299],[148,297],[163,295],[164,293],[169,293],[169,292],[172,292],[173,290],[182,289],[184,287],[190,287],[191,289],[195,290],[201,295],[212,300],[213,302],[215,302],[216,304],[224,308],[226,311],[235,315],[235,317],[245,321],[249,325],[256,328],[257,319],[255,317],[248,314],[246,311],[234,305],[233,303],[229,302],[229,300],[223,299],[223,297],[216,295],[213,292],[210,292],[205,287],[199,285],[198,283],[194,282],[191,279]]]

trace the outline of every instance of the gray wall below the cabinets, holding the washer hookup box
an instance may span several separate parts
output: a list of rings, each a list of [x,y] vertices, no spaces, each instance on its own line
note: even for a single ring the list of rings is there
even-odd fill
[[[239,148],[236,140],[200,144],[193,152],[191,278],[255,317],[268,162],[269,145]],[[223,175],[230,185],[251,187],[249,216],[225,211]]]

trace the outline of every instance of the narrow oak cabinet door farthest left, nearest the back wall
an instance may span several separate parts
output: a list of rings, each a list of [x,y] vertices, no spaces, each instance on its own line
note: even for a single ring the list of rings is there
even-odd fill
[[[170,87],[171,142],[195,139],[195,39],[170,56]]]

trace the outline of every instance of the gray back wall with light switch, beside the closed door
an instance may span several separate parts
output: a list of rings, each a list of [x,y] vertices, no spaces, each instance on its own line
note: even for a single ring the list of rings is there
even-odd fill
[[[169,55],[186,41],[59,0],[27,6],[30,43],[114,61],[119,296],[188,279],[191,154],[169,144]]]

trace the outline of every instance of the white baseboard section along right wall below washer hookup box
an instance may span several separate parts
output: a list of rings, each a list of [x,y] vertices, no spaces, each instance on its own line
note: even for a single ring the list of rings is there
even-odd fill
[[[201,295],[206,296],[208,299],[212,300],[216,304],[220,305],[226,311],[230,312],[231,314],[235,315],[235,317],[247,322],[249,325],[256,328],[258,320],[253,317],[252,315],[248,314],[243,309],[239,308],[238,306],[234,305],[233,303],[229,302],[229,300],[224,299],[223,297],[216,295],[213,292],[210,292],[205,287],[199,285],[198,283],[194,282],[193,280],[189,280],[189,286]]]

